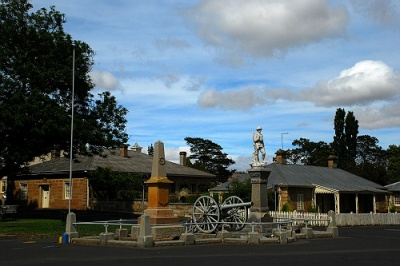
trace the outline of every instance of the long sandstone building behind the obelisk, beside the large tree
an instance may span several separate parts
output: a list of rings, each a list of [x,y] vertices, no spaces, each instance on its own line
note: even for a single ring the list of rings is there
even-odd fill
[[[114,172],[132,173],[150,177],[153,157],[141,152],[135,144],[131,150],[127,146],[119,150],[105,150],[101,155],[79,156],[72,168],[72,199],[70,200],[69,158],[55,157],[49,161],[30,165],[17,175],[14,181],[14,196],[20,205],[38,208],[85,210],[95,199],[95,191],[90,186],[89,173],[97,167],[110,167]],[[181,163],[166,161],[168,179],[174,183],[171,193],[181,190],[195,193],[204,191],[214,181],[215,176],[184,165],[186,153],[181,152]]]

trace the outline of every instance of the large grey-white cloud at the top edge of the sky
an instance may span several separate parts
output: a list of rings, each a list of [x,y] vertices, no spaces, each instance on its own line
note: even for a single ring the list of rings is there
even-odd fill
[[[190,15],[208,44],[261,57],[337,37],[348,21],[344,7],[326,0],[205,0]]]

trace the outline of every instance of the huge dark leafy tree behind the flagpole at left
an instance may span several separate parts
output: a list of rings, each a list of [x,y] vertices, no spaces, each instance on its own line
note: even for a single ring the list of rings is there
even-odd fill
[[[98,100],[91,94],[94,52],[64,32],[64,15],[0,1],[0,175],[50,150],[69,151],[73,61],[74,150],[126,142],[127,110],[109,93]]]

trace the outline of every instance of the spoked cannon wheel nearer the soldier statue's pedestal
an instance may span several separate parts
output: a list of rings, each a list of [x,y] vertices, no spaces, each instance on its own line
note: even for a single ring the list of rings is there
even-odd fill
[[[229,208],[229,205],[238,203],[243,203],[243,200],[237,196],[231,196],[225,199],[221,205],[221,209],[225,210],[223,221],[229,222],[229,229],[234,231],[242,230],[248,218],[246,206]]]

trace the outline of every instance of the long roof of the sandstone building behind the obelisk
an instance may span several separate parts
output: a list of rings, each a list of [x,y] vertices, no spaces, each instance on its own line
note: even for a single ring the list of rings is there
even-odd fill
[[[89,172],[97,167],[111,167],[114,172],[150,174],[153,157],[144,153],[128,150],[128,156],[119,155],[119,150],[105,150],[101,156],[78,156],[72,166],[73,172]],[[69,158],[62,157],[55,160],[31,165],[27,167],[31,175],[65,174],[69,172]],[[166,161],[167,176],[190,176],[214,178],[215,175],[194,168]]]

